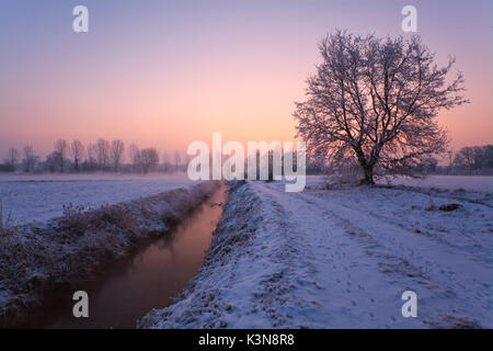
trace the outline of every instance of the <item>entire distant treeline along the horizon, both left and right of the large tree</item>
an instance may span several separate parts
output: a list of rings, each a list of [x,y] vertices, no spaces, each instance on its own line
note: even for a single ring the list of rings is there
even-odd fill
[[[108,141],[98,139],[87,147],[74,139],[70,144],[64,139],[55,143],[55,148],[45,160],[35,154],[31,145],[22,150],[9,148],[0,172],[123,172],[148,173],[149,171],[176,172],[185,171],[188,157],[182,160],[180,152],[170,155],[164,151],[161,156],[153,147],[140,149],[130,144],[126,148],[121,139]],[[271,163],[271,159],[270,159]],[[295,158],[296,165],[296,158]],[[347,169],[358,168],[354,160],[347,160],[343,166]],[[272,168],[272,166],[270,167]],[[319,156],[307,155],[308,174],[326,174],[340,171],[341,166],[334,167],[330,160]],[[440,158],[429,157],[410,169],[411,173],[421,174],[493,174],[493,145],[463,147],[459,151],[449,150]]]

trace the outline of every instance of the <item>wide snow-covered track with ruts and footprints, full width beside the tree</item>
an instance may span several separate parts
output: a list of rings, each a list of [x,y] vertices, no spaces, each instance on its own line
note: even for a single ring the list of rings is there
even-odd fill
[[[493,319],[491,263],[368,214],[365,206],[331,200],[330,193],[318,197],[285,193],[280,185],[253,186],[280,205],[288,226],[303,237],[307,260],[317,270],[313,280],[322,286],[316,299],[325,326],[415,327],[424,321],[460,322],[466,316]],[[401,315],[400,296],[406,290],[417,293],[420,318]]]

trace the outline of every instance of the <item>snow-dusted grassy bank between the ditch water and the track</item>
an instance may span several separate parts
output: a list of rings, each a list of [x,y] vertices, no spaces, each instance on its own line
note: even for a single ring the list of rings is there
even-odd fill
[[[229,191],[203,268],[175,304],[150,310],[141,329],[293,327],[299,260],[282,220],[250,182]]]

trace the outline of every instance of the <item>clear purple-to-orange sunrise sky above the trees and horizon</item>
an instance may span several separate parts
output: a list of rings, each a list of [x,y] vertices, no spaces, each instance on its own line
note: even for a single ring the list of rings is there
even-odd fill
[[[89,33],[72,31],[73,7]],[[288,141],[317,44],[335,29],[409,36],[455,56],[468,105],[439,115],[456,149],[493,144],[493,1],[0,1],[0,159],[58,138],[184,152],[195,140]]]

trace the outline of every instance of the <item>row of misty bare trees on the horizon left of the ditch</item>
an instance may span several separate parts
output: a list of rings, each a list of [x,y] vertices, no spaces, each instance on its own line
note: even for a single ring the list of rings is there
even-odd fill
[[[185,170],[187,159],[184,163],[177,151],[172,156],[163,152],[160,157],[154,147],[139,148],[130,144],[127,148],[121,139],[108,141],[101,138],[87,146],[79,139],[71,143],[58,139],[53,152],[44,160],[31,145],[22,150],[9,148],[4,162],[0,163],[0,172],[175,172]]]

